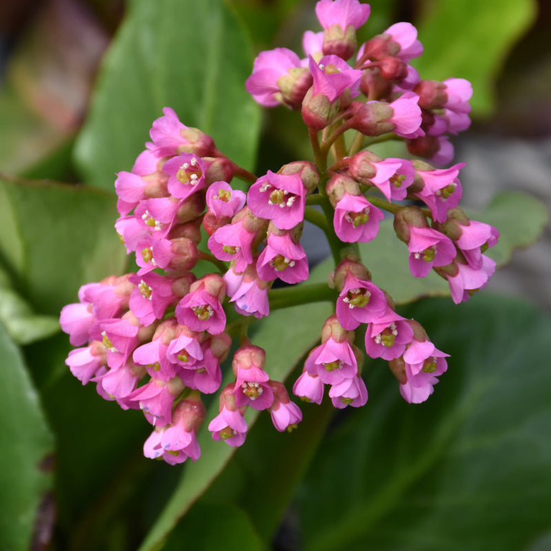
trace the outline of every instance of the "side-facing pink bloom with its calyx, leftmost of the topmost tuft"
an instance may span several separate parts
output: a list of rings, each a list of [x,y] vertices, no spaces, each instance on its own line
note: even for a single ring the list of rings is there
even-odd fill
[[[264,107],[284,103],[298,109],[311,81],[311,75],[295,52],[275,48],[258,54],[245,87],[256,103]]]

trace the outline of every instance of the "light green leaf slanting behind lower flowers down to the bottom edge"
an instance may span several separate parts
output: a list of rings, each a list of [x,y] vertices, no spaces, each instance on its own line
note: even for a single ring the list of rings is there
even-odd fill
[[[274,311],[270,314],[269,320],[261,324],[260,329],[251,337],[251,342],[266,351],[266,369],[272,379],[284,380],[289,375],[296,362],[319,339],[321,324],[329,315],[331,315],[329,303],[309,304],[309,306],[295,306]],[[230,382],[231,379],[233,375],[229,373],[229,380],[226,382]],[[222,382],[222,386],[224,384]],[[235,453],[235,448],[221,441],[214,441],[207,430],[208,420],[216,415],[218,415],[218,402],[215,400],[209,408],[207,422],[198,435],[201,457],[197,463],[186,466],[178,486],[174,488],[173,494],[160,512],[140,551],[158,548],[157,546],[176,526],[178,519],[183,517],[198,497],[207,490]],[[254,410],[247,412],[249,429],[257,416],[258,412]],[[275,437],[278,435],[274,435]]]

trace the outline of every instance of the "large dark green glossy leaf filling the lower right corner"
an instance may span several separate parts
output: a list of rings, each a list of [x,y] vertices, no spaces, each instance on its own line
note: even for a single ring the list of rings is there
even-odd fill
[[[296,495],[305,548],[530,548],[551,528],[551,319],[491,295],[415,306],[405,315],[450,353],[448,372],[414,405],[385,362],[368,366],[368,404]]]

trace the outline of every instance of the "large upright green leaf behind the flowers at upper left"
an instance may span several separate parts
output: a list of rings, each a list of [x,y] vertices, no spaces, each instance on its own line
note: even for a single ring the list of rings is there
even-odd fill
[[[260,125],[258,105],[245,90],[252,59],[221,0],[130,2],[76,143],[85,180],[112,189],[114,174],[132,167],[165,106],[250,168]]]

